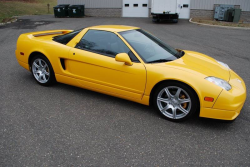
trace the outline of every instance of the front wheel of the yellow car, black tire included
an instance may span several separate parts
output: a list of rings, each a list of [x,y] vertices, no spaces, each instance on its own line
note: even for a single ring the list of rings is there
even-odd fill
[[[165,88],[169,90],[171,97],[167,95]],[[180,93],[177,98],[178,90],[180,90]],[[180,122],[190,118],[199,109],[199,99],[195,91],[181,82],[166,81],[162,83],[155,89],[152,98],[155,110],[165,119],[174,122]],[[189,100],[190,102],[183,103],[184,100]]]

